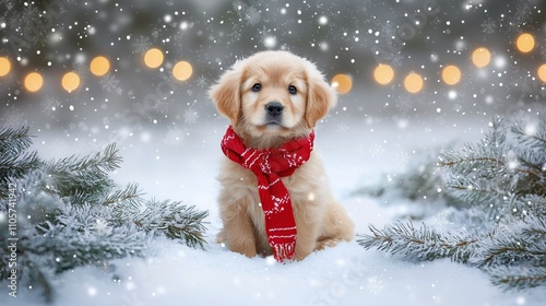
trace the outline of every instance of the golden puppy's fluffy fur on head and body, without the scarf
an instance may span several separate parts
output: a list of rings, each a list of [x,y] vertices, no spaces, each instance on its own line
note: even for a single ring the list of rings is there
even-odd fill
[[[286,51],[263,51],[237,62],[211,89],[210,96],[245,144],[256,149],[276,148],[308,136],[336,102],[335,92],[314,64]],[[282,105],[281,115],[268,111],[272,102]],[[218,240],[248,257],[271,255],[256,176],[226,157],[218,180],[224,223]],[[353,239],[354,223],[333,198],[314,151],[306,164],[282,180],[293,202],[297,259]]]

